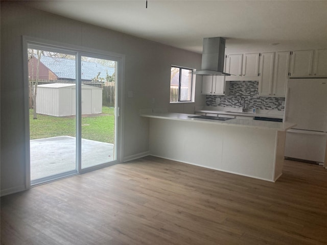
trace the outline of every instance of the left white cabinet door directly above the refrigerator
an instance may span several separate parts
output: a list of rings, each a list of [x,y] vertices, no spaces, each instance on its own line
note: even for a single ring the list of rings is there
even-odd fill
[[[292,77],[311,76],[313,53],[314,50],[293,51],[290,76]]]

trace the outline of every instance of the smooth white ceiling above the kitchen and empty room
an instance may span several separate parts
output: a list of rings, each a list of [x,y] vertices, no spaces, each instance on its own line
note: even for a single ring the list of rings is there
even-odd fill
[[[201,53],[205,37],[226,53],[327,47],[327,1],[26,1],[32,8]]]

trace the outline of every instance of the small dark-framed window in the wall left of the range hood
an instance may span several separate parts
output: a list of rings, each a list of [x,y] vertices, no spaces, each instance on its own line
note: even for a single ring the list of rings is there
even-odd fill
[[[171,66],[170,103],[194,102],[194,83],[192,68]]]

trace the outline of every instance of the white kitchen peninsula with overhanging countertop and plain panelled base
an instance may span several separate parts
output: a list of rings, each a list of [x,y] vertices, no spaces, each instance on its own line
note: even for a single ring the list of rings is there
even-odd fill
[[[142,110],[149,117],[153,156],[266,181],[282,175],[286,130],[292,123]]]

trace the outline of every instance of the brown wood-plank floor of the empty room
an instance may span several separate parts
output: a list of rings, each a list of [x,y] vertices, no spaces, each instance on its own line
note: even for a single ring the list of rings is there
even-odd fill
[[[1,244],[327,244],[327,170],[276,183],[145,157],[1,198]]]

